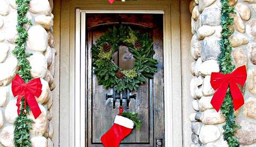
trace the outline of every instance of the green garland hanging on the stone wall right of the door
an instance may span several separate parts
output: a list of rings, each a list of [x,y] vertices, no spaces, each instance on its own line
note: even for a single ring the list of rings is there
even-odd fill
[[[234,8],[230,6],[228,0],[221,0],[222,39],[219,42],[220,54],[218,56],[221,73],[231,73],[235,69],[235,66],[233,65],[233,58],[231,56],[232,46],[230,40],[228,39],[228,37],[233,34],[233,31],[231,31],[229,28],[234,23],[233,18],[230,16],[231,13],[234,13]],[[236,133],[236,129],[240,128],[240,126],[235,124],[233,99],[229,87],[220,110],[223,116],[226,118],[226,123],[223,126],[224,139],[227,141],[228,146],[237,147],[239,146],[239,141],[233,136]]]

